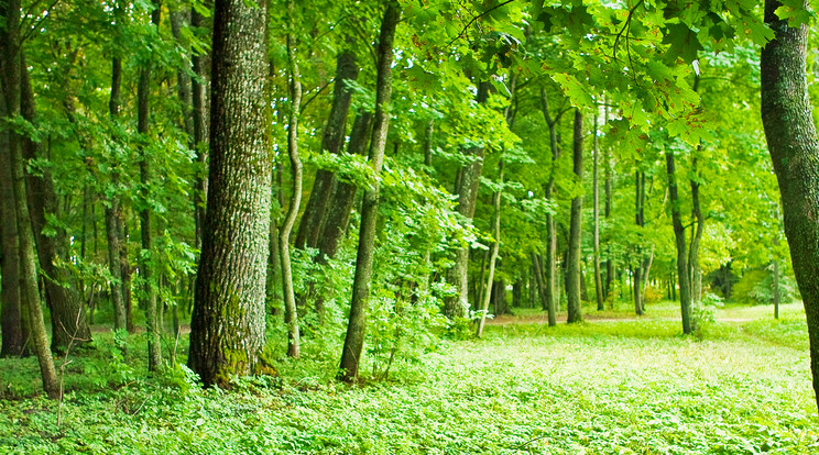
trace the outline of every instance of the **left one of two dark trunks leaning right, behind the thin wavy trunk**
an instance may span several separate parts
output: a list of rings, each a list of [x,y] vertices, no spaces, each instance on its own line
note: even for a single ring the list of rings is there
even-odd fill
[[[347,87],[347,81],[354,81],[358,79],[359,74],[359,66],[356,62],[356,53],[353,51],[341,51],[336,62],[332,106],[330,107],[327,126],[325,126],[324,136],[321,137],[321,151],[331,154],[340,153],[345,145],[347,113],[352,102],[352,90]],[[318,169],[316,171],[313,190],[304,208],[302,222],[298,225],[296,247],[315,248],[318,246],[321,221],[325,219],[325,211],[329,207],[327,202],[330,199],[335,180],[331,170]]]

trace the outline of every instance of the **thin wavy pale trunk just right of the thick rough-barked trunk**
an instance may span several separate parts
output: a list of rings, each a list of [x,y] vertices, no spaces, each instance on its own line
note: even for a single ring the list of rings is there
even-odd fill
[[[279,251],[282,260],[282,293],[284,296],[284,322],[287,324],[287,356],[298,358],[299,332],[298,314],[296,312],[296,297],[293,290],[293,268],[290,257],[290,234],[298,215],[298,207],[302,203],[302,160],[298,158],[298,110],[302,107],[302,80],[298,75],[298,64],[295,56],[295,40],[293,30],[293,0],[287,2],[288,33],[287,33],[287,69],[290,71],[290,120],[287,122],[287,154],[291,160],[291,177],[293,189],[291,192],[290,209],[279,233]]]

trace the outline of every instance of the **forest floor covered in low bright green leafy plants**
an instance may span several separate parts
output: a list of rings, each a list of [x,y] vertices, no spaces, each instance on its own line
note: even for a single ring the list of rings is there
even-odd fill
[[[771,307],[719,309],[687,337],[675,310],[556,328],[516,310],[357,387],[332,379],[335,344],[203,391],[185,368],[143,374],[144,335],[100,334],[70,358],[62,406],[36,392],[36,362],[0,359],[0,453],[819,453],[800,306],[778,321]]]

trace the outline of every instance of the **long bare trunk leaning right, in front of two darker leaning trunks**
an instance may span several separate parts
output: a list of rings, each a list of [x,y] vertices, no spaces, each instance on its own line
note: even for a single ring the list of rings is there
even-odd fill
[[[393,40],[395,27],[401,16],[401,8],[395,1],[390,1],[384,11],[381,23],[378,53],[378,81],[375,84],[375,124],[370,141],[369,162],[376,175],[381,173],[384,160],[386,133],[390,127],[390,99],[392,98],[392,63]],[[338,378],[346,382],[357,380],[361,353],[364,347],[367,331],[367,307],[370,299],[370,281],[372,279],[373,253],[375,251],[375,222],[379,210],[379,184],[364,192],[361,206],[361,228],[359,230],[359,247],[356,262],[356,276],[352,282],[352,298],[350,299],[350,320],[341,354]]]

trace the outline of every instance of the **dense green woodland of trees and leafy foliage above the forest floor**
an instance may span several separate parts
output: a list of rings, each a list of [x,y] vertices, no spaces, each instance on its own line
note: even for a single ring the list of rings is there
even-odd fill
[[[386,384],[512,322],[708,340],[724,304],[784,306],[807,362],[813,13],[767,3],[0,0],[0,397],[26,356],[62,412]]]

